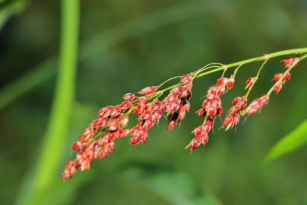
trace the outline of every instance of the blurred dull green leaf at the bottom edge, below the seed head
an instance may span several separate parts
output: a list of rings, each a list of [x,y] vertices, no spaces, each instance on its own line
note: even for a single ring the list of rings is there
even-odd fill
[[[211,193],[203,193],[184,172],[153,162],[128,162],[123,169],[126,177],[133,177],[144,187],[155,192],[165,201],[176,205],[221,205]],[[122,172],[121,172],[122,175]]]

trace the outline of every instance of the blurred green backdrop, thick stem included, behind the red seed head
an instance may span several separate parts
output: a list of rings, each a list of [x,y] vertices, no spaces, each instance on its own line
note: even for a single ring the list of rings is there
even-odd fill
[[[221,73],[195,80],[180,128],[166,132],[162,119],[145,145],[129,150],[123,138],[90,171],[65,183],[60,178],[74,157],[72,143],[101,107],[119,104],[123,94],[212,62],[306,47],[307,1],[87,0],[79,7],[74,0],[0,1],[1,204],[307,204],[305,148],[260,165],[306,118],[307,60],[236,132],[218,130],[217,119],[209,143],[193,155],[184,147],[202,123],[194,112]],[[63,20],[69,13],[74,19]],[[283,71],[279,60],[268,61],[249,101]],[[225,111],[260,65],[239,70],[222,97]],[[58,81],[59,70],[66,78]]]

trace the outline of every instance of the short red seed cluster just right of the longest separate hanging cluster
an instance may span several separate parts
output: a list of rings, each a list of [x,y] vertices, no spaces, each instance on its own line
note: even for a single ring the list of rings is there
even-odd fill
[[[244,110],[247,104],[247,97],[235,97],[232,100],[232,107],[226,114],[226,118],[223,122],[223,128],[225,126],[226,130],[228,130],[230,127],[237,126],[239,124],[240,120],[240,113]]]

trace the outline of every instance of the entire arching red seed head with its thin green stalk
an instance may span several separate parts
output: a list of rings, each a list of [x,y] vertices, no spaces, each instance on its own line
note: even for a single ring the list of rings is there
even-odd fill
[[[307,48],[292,49],[280,51],[263,56],[251,58],[237,63],[223,65],[220,63],[208,64],[205,67],[192,73],[177,76],[166,80],[159,86],[146,87],[137,93],[127,93],[123,96],[124,101],[116,106],[107,106],[99,110],[97,118],[90,123],[90,126],[79,136],[73,144],[72,149],[77,151],[74,160],[65,163],[62,178],[67,180],[71,178],[78,169],[81,171],[90,169],[92,160],[105,158],[115,149],[115,138],[120,139],[129,136],[128,141],[131,146],[145,144],[148,140],[148,130],[155,124],[158,124],[161,117],[167,117],[169,120],[167,130],[173,129],[181,124],[187,112],[190,111],[189,100],[192,97],[193,80],[201,76],[223,71],[221,78],[217,79],[216,84],[212,85],[203,101],[202,107],[196,111],[199,117],[204,118],[202,125],[196,127],[192,133],[194,138],[185,147],[191,151],[200,145],[205,146],[208,142],[208,133],[214,127],[215,118],[223,114],[222,101],[220,96],[227,93],[235,84],[235,77],[239,68],[254,61],[264,61],[259,68],[256,76],[252,76],[246,81],[247,90],[244,96],[237,96],[232,101],[232,107],[227,112],[222,128],[228,130],[238,125],[240,117],[250,116],[263,107],[268,102],[271,93],[279,93],[283,85],[290,80],[290,71],[298,62],[307,57],[307,54],[299,56],[298,53],[307,53]],[[277,73],[273,76],[274,82],[271,89],[263,96],[254,99],[248,106],[248,95],[255,85],[261,70],[265,67],[267,61],[273,57],[281,55],[296,54],[295,57],[287,57],[281,60],[284,68],[287,70],[283,73]],[[225,77],[229,68],[236,67],[234,72]],[[170,80],[179,79],[179,83],[165,89],[162,86]],[[169,93],[162,99],[163,94]],[[129,116],[138,116],[138,123],[132,128],[126,129]]]

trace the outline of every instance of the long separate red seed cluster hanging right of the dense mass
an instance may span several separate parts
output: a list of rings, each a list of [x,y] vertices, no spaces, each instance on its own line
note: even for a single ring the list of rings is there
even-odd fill
[[[199,126],[192,133],[195,137],[186,146],[186,149],[191,147],[191,151],[198,148],[201,144],[204,146],[208,142],[208,132],[214,127],[214,119],[216,116],[221,117],[223,113],[222,101],[220,96],[227,90],[231,89],[234,85],[234,75],[230,78],[222,77],[217,80],[216,85],[209,88],[207,91],[206,99],[203,101],[202,109],[196,113],[200,117],[206,117],[203,125]]]

